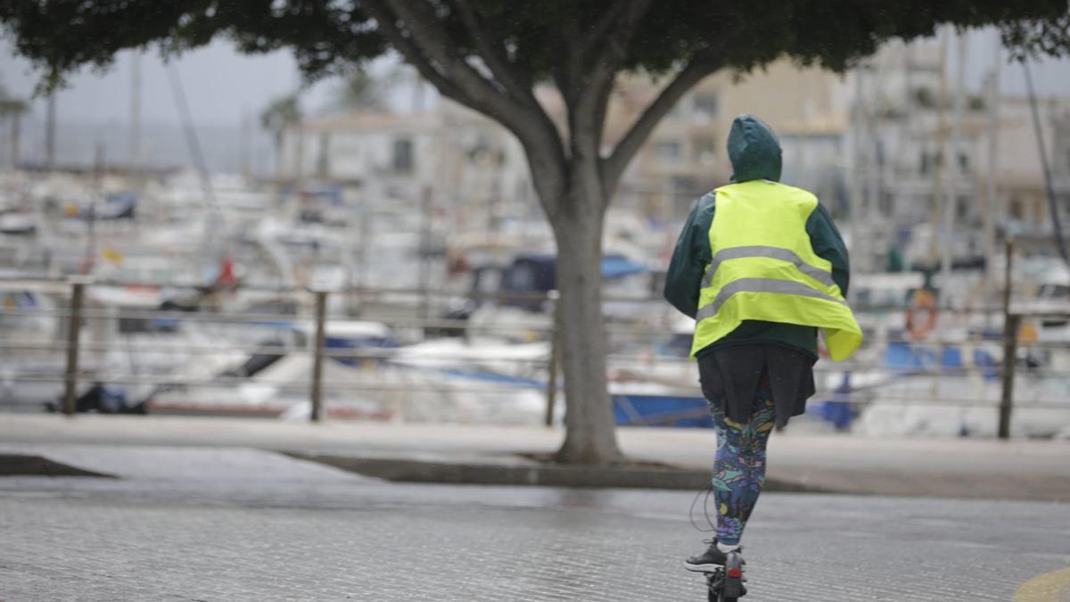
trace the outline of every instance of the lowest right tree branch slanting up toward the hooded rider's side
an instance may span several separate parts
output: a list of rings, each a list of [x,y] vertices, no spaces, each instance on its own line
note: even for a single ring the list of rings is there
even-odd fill
[[[687,66],[681,70],[676,74],[676,77],[669,82],[658,97],[651,103],[646,110],[643,111],[631,127],[628,133],[621,138],[617,142],[616,148],[613,149],[613,154],[606,159],[602,169],[602,185],[607,190],[613,190],[616,187],[617,182],[621,180],[621,176],[624,170],[628,167],[628,164],[639,152],[639,149],[646,142],[651,133],[657,127],[661,119],[672,110],[672,107],[681,100],[699,81],[702,81],[707,75],[716,72],[721,67],[720,61],[704,60],[702,57],[696,56]]]

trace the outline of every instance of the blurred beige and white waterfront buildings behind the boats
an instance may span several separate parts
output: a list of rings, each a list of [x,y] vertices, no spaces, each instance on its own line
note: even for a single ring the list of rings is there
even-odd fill
[[[780,136],[783,181],[822,199],[866,271],[897,262],[931,267],[946,245],[954,261],[976,261],[994,247],[985,231],[995,231],[993,238],[1050,238],[1027,100],[997,97],[992,90],[960,93],[947,70],[950,46],[890,44],[843,75],[788,60],[749,74],[713,75],[655,129],[625,172],[613,207],[674,232],[696,198],[730,181],[729,129],[737,115],[749,112]],[[639,76],[618,82],[605,127],[607,151],[659,88]],[[538,97],[564,131],[556,91],[539,90]],[[1042,99],[1039,105],[1057,205],[1066,211],[1070,99]],[[510,224],[541,216],[517,140],[448,101],[425,114],[310,119],[287,133],[284,153],[288,179],[374,185],[400,199],[419,198],[432,187],[440,202],[455,209],[457,230],[508,231]]]

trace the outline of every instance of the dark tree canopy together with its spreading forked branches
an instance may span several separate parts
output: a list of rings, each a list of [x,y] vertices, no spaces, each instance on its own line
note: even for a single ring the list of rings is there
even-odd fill
[[[720,69],[790,56],[842,70],[884,41],[946,24],[994,25],[1017,52],[1061,54],[1067,15],[1067,0],[0,0],[0,20],[46,86],[150,44],[179,52],[226,36],[245,52],[290,48],[308,78],[350,73],[393,47],[444,95],[514,131],[530,153],[541,147],[534,162],[580,152],[576,126],[600,134],[617,73],[672,74],[664,101],[607,157],[611,190],[660,117]],[[574,140],[552,139],[531,93],[539,81],[552,81],[578,118]]]

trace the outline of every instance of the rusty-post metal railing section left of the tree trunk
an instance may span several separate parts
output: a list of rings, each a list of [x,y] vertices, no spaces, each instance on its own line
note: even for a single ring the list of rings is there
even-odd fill
[[[89,352],[108,352],[117,350],[132,350],[136,351],[141,356],[151,356],[153,353],[173,353],[178,351],[198,353],[198,352],[218,352],[218,351],[234,351],[246,355],[279,355],[279,353],[292,353],[292,352],[305,352],[311,357],[312,365],[310,370],[310,375],[308,378],[308,400],[310,402],[311,411],[310,418],[312,421],[319,421],[324,416],[324,394],[331,391],[392,391],[402,389],[406,391],[434,391],[433,385],[426,383],[414,383],[414,382],[402,382],[402,383],[358,383],[358,382],[333,382],[328,383],[324,381],[324,364],[328,359],[334,360],[353,360],[353,361],[383,361],[392,360],[397,356],[397,349],[394,348],[328,348],[325,344],[326,342],[326,331],[327,326],[332,322],[332,317],[327,315],[327,300],[331,295],[346,295],[346,296],[358,296],[363,299],[389,299],[398,296],[409,296],[409,297],[424,297],[427,296],[438,296],[438,297],[458,297],[455,294],[443,292],[443,291],[427,291],[427,290],[409,290],[409,289],[371,289],[371,288],[354,288],[338,291],[325,291],[325,290],[307,290],[307,289],[296,289],[296,288],[278,288],[278,287],[243,287],[245,290],[259,290],[277,292],[285,295],[303,295],[311,298],[312,300],[312,311],[311,316],[307,315],[293,315],[293,314],[278,314],[278,313],[265,313],[265,312],[183,312],[183,311],[159,311],[159,310],[144,310],[144,308],[131,308],[131,307],[91,307],[88,306],[87,290],[94,285],[100,283],[93,283],[88,280],[72,279],[70,281],[27,281],[25,279],[19,280],[7,280],[6,284],[9,286],[26,285],[26,286],[42,286],[47,287],[52,290],[52,292],[58,292],[57,289],[65,287],[68,289],[68,294],[65,296],[66,304],[57,305],[50,310],[13,310],[13,308],[0,308],[0,319],[2,318],[15,318],[15,319],[31,319],[34,317],[47,317],[58,320],[62,326],[62,330],[65,332],[63,341],[40,341],[40,340],[28,340],[27,337],[12,337],[4,336],[0,337],[0,352],[41,352],[41,353],[62,353],[64,357],[63,361],[63,372],[61,375],[61,380],[63,383],[63,394],[60,404],[60,409],[64,413],[72,416],[76,410],[76,401],[79,393],[79,385],[85,382],[87,379],[106,381],[113,385],[149,385],[149,386],[182,386],[182,387],[208,387],[208,386],[219,386],[219,387],[233,387],[245,382],[245,378],[242,376],[203,376],[195,374],[156,374],[156,375],[120,375],[120,374],[109,374],[107,371],[95,371],[90,372],[85,368],[85,362],[82,361],[83,356]],[[105,284],[107,285],[107,284]],[[124,283],[123,286],[133,286],[128,283]],[[549,302],[550,304],[555,303],[555,292],[550,294],[464,294],[460,297],[468,299],[486,299],[486,300],[513,300],[513,301],[535,301],[535,302]],[[421,311],[423,313],[423,310]],[[274,345],[243,345],[240,343],[234,343],[233,341],[220,343],[220,344],[210,344],[205,345],[202,343],[195,343],[192,345],[179,345],[169,346],[167,349],[153,349],[151,348],[151,343],[149,346],[142,345],[126,345],[124,346],[121,342],[101,342],[101,341],[86,341],[83,337],[83,331],[86,330],[86,325],[93,320],[170,320],[177,323],[200,323],[200,325],[211,325],[211,323],[223,323],[223,325],[246,325],[246,326],[258,326],[258,325],[289,325],[289,328],[294,331],[311,330],[311,336],[305,337],[305,341],[299,345],[288,346],[280,348]],[[351,319],[351,318],[346,318]],[[365,318],[367,319],[367,318]],[[371,318],[376,320],[376,318]],[[553,336],[554,325],[549,322],[546,326],[538,325],[510,325],[510,323],[499,323],[499,325],[480,325],[472,323],[464,319],[427,319],[422,317],[406,317],[406,316],[392,316],[388,319],[378,319],[376,321],[381,321],[386,326],[394,329],[450,329],[457,332],[463,332],[464,335],[492,332],[496,334],[509,334],[518,332],[536,332],[542,337],[551,341],[555,341]],[[620,332],[621,329],[609,328],[608,331]],[[133,347],[133,348],[132,348]],[[551,347],[554,347],[551,345]],[[529,365],[534,371],[541,371],[544,373],[549,372],[547,376],[547,385],[545,387],[545,395],[548,400],[549,410],[547,412],[547,420],[550,420],[553,416],[552,408],[555,403],[555,397],[557,394],[557,379],[556,370],[554,370],[556,362],[556,349],[554,348],[548,359],[540,358],[515,358],[515,359],[504,359],[496,361],[507,361],[513,362],[518,365]],[[458,361],[458,360],[478,360],[480,359],[477,355],[464,352],[461,353],[450,353],[448,357],[422,357],[419,358],[425,362],[434,362],[437,359],[442,361]],[[2,371],[0,371],[2,373]],[[0,375],[2,376],[2,375]],[[55,382],[57,377],[49,374],[29,374],[12,376],[7,375],[7,380],[18,381],[18,382]],[[272,380],[260,380],[260,385],[269,386],[292,386],[292,381],[272,381]],[[516,387],[505,387],[505,386],[470,386],[470,387],[452,387],[450,392],[453,393],[482,393],[482,394],[494,394],[502,392],[515,391]]]

